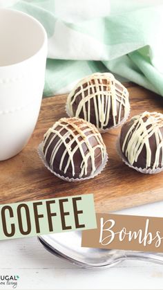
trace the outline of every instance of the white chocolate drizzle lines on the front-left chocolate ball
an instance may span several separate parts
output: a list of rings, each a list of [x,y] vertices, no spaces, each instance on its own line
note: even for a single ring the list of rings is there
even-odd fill
[[[62,131],[65,131],[64,134],[61,134]],[[88,136],[86,136],[86,133],[89,132]],[[52,134],[52,138],[50,139],[50,142],[48,143],[48,138]],[[104,142],[102,140],[101,134],[98,132],[97,128],[86,122],[83,119],[79,118],[61,118],[58,122],[56,122],[44,135],[44,144],[43,144],[43,151],[44,156],[46,157],[48,154],[48,149],[53,141],[55,141],[56,137],[59,137],[59,141],[55,143],[54,147],[52,148],[52,153],[50,156],[50,168],[53,170],[53,166],[55,163],[55,156],[59,150],[59,147],[64,144],[65,150],[64,153],[61,156],[61,161],[59,164],[59,170],[64,171],[64,174],[66,174],[68,167],[72,167],[72,176],[75,176],[75,160],[74,160],[74,154],[77,152],[77,150],[80,151],[82,160],[80,165],[80,173],[79,178],[86,175],[88,172],[88,160],[91,161],[91,174],[92,176],[95,171],[97,170],[95,166],[95,150],[99,148],[101,156],[102,156],[102,162],[104,161],[104,158],[106,156],[106,146],[104,145]],[[90,138],[95,137],[97,141],[97,145],[92,147],[90,144]],[[75,147],[73,148],[72,145]],[[82,145],[85,143],[87,147],[86,154],[84,153],[84,149]],[[47,145],[48,144],[48,145]],[[46,148],[46,149],[45,149]],[[66,154],[68,154],[68,161],[66,164],[66,167],[63,166],[64,164],[64,158],[66,157]]]

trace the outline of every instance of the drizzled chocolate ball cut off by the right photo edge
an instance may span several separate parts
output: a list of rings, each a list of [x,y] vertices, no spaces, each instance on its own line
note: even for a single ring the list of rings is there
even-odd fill
[[[131,118],[122,126],[120,149],[133,167],[157,170],[163,167],[163,114],[149,113]]]

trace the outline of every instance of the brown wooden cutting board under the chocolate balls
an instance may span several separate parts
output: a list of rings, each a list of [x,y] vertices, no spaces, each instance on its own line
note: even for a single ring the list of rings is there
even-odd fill
[[[163,113],[163,98],[136,84],[125,84],[130,93],[131,116],[143,111]],[[46,130],[66,116],[66,95],[45,98],[39,120],[25,149],[0,162],[0,203],[48,199],[93,193],[97,212],[108,212],[163,200],[163,172],[146,175],[126,166],[117,155],[115,143],[120,129],[103,134],[109,161],[106,168],[88,181],[68,183],[50,173],[39,159],[37,146]]]

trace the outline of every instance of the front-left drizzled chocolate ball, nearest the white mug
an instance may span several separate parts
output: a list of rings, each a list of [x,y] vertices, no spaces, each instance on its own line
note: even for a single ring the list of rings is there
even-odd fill
[[[101,134],[79,118],[61,118],[48,129],[43,152],[50,169],[68,179],[94,176],[106,160]]]

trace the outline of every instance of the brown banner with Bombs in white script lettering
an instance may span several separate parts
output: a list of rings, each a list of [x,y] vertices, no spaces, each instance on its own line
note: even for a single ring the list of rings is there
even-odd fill
[[[81,246],[163,252],[163,217],[97,213],[97,228],[82,232]]]

